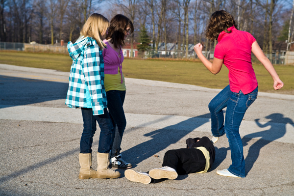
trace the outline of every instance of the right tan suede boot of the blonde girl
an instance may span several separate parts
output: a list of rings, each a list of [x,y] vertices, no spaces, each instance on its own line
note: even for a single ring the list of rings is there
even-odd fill
[[[118,178],[121,176],[120,172],[108,168],[109,153],[97,153],[97,178]]]

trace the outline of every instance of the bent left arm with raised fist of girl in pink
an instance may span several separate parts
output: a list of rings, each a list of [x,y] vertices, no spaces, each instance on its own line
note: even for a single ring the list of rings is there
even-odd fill
[[[208,69],[211,73],[217,74],[221,71],[221,66],[223,59],[219,59],[214,57],[212,63],[205,58],[202,54],[202,44],[198,43],[194,46],[194,51],[196,52],[198,58],[201,60],[203,65]]]

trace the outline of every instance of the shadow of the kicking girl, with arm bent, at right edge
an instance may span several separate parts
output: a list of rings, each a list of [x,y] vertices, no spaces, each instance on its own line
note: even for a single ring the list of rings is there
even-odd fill
[[[259,122],[259,119],[255,119],[256,124],[260,128],[268,127],[270,126],[270,129],[265,131],[260,131],[257,133],[248,134],[243,137],[243,146],[246,146],[247,143],[253,139],[253,138],[260,138],[255,143],[253,143],[248,150],[248,155],[245,158],[245,172],[248,173],[251,168],[253,167],[254,163],[256,162],[260,150],[265,145],[269,144],[273,140],[277,140],[279,138],[282,138],[286,133],[286,124],[290,123],[292,126],[294,126],[294,122],[290,118],[286,118],[281,113],[272,113],[265,118],[270,119],[269,122],[265,124],[261,124]]]

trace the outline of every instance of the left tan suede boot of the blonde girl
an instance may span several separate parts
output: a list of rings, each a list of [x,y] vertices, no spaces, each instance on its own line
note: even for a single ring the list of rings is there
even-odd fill
[[[80,162],[80,173],[78,175],[79,179],[89,179],[97,178],[96,171],[91,167],[92,166],[92,153],[78,155]]]

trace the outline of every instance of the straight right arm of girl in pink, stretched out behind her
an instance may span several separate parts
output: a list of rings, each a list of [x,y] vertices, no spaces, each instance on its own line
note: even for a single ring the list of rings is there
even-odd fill
[[[272,66],[269,58],[265,56],[261,48],[259,47],[257,41],[253,42],[252,44],[252,53],[257,57],[257,59],[263,64],[266,70],[270,73],[271,78],[273,79],[273,88],[275,90],[281,89],[284,83],[280,80],[277,72],[275,71],[274,67]]]

